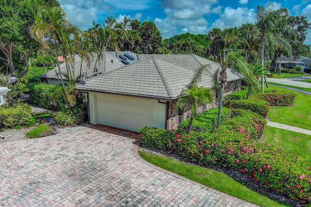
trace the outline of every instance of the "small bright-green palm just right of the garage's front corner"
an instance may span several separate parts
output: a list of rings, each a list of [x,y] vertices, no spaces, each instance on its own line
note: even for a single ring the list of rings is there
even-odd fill
[[[207,104],[213,99],[212,91],[208,88],[198,87],[197,85],[186,86],[180,94],[177,101],[177,107],[183,110],[186,106],[190,106],[190,122],[188,132],[192,129],[193,117],[197,113],[200,104]]]

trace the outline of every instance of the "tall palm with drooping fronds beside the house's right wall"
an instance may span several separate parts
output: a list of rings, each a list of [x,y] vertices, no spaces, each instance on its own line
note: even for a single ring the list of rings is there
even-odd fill
[[[258,85],[258,81],[256,80],[253,73],[250,71],[248,64],[245,62],[245,58],[242,55],[238,54],[236,51],[233,51],[233,49],[240,44],[240,41],[238,40],[230,44],[228,48],[226,48],[226,42],[227,36],[225,36],[225,48],[221,51],[219,56],[220,58],[219,67],[216,70],[216,72],[212,74],[213,81],[215,82],[214,91],[215,92],[219,91],[218,122],[217,122],[218,127],[221,125],[223,97],[225,85],[227,84],[227,73],[226,73],[227,67],[235,68],[238,72],[244,75],[244,80],[248,84],[252,84],[254,87]],[[210,66],[208,64],[199,68],[195,72],[189,85],[192,86],[200,82],[204,71],[210,73],[208,69],[210,69]]]

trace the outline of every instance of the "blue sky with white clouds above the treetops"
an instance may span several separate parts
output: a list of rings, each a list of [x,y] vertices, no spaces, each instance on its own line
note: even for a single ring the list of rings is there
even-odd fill
[[[207,34],[214,27],[225,29],[256,22],[257,5],[266,0],[59,0],[69,20],[82,29],[93,20],[103,25],[107,16],[124,16],[155,22],[163,39],[190,32]],[[291,15],[307,16],[311,22],[311,0],[276,0],[275,8],[286,7]],[[308,31],[306,44],[311,44]]]

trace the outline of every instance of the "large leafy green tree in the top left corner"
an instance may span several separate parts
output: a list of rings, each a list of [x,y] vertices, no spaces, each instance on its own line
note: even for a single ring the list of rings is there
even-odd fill
[[[27,63],[28,54],[38,45],[29,34],[29,27],[34,23],[34,15],[41,5],[59,5],[56,0],[1,0],[0,1],[0,50],[11,75],[16,74],[14,62]],[[18,47],[17,47],[18,46]],[[18,57],[14,56],[14,50],[20,50]],[[24,53],[22,61],[20,53]],[[28,67],[28,64],[26,64]]]

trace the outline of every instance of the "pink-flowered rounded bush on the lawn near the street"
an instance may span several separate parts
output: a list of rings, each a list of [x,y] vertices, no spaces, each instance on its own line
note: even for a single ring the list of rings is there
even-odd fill
[[[270,106],[291,106],[295,100],[295,94],[279,90],[265,90],[261,99],[269,102]]]

